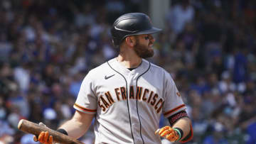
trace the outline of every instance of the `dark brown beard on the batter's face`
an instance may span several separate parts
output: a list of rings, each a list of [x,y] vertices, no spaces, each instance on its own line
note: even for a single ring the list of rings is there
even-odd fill
[[[141,45],[139,43],[139,40],[136,40],[136,45],[134,45],[134,51],[139,57],[142,58],[149,58],[153,57],[154,50],[152,48],[149,48],[147,45]]]

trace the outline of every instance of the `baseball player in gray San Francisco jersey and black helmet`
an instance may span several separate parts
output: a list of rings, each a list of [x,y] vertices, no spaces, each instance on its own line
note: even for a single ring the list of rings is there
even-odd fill
[[[193,137],[186,105],[170,74],[144,58],[152,57],[152,26],[144,13],[127,13],[111,29],[119,55],[90,70],[82,81],[73,118],[57,131],[80,138],[95,118],[95,143],[186,142]],[[170,126],[159,129],[161,114]],[[48,132],[34,140],[52,143]]]

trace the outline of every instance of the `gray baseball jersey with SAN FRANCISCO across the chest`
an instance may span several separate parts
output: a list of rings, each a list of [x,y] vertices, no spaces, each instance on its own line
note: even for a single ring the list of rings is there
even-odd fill
[[[74,108],[95,113],[95,143],[161,143],[154,132],[186,109],[171,75],[142,60],[130,71],[114,58],[88,72]]]

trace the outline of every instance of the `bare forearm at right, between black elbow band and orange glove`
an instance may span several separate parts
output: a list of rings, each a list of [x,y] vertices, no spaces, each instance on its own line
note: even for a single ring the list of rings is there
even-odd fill
[[[183,138],[186,138],[188,133],[191,132],[191,120],[187,117],[180,118],[178,121],[176,121],[172,128],[181,128],[183,131],[183,137],[181,138],[182,140]]]

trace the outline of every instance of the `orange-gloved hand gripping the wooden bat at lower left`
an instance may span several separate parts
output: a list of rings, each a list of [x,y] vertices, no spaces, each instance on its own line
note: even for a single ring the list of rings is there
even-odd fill
[[[46,126],[46,125],[40,122],[39,126]],[[34,135],[33,140],[36,142],[39,141],[40,143],[53,144],[53,136],[49,135],[48,131],[41,131],[41,133],[38,135],[38,138],[36,138],[36,135]]]

